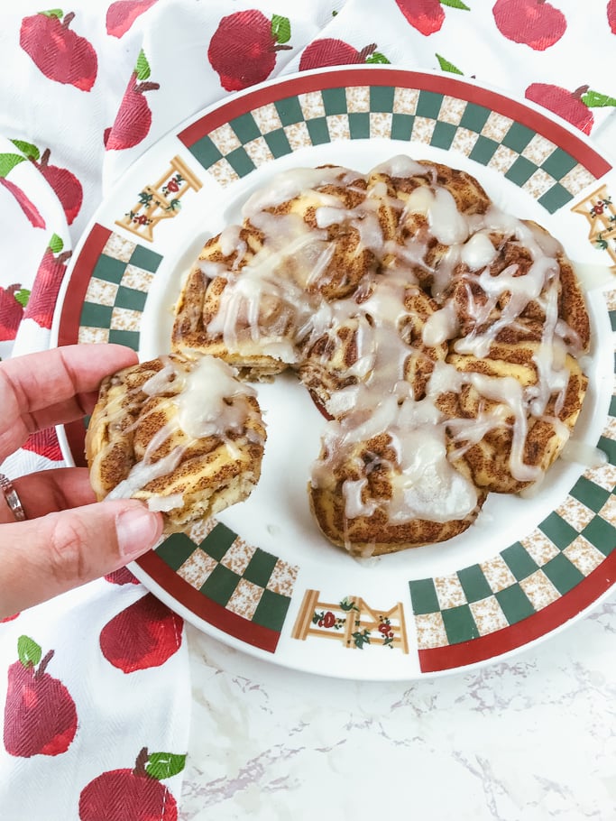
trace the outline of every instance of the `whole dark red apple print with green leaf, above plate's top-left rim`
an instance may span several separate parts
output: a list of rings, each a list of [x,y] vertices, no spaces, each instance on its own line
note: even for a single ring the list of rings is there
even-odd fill
[[[207,59],[227,91],[260,83],[276,65],[276,54],[291,48],[289,18],[271,20],[258,9],[223,17],[209,42]]]

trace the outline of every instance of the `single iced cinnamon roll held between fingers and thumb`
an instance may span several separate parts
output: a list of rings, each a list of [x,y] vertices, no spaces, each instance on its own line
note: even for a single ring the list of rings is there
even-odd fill
[[[244,500],[264,443],[255,392],[230,365],[170,354],[106,378],[86,456],[99,501],[142,499],[171,533]]]

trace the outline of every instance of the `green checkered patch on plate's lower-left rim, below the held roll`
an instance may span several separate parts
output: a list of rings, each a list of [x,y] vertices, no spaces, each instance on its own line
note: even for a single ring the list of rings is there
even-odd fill
[[[247,545],[214,520],[205,538],[174,534],[157,555],[190,586],[216,604],[272,631],[280,632],[289,609],[296,567]]]

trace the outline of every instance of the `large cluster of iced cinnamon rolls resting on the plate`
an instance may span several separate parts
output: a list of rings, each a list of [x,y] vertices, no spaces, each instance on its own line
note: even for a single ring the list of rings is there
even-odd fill
[[[470,174],[399,156],[253,193],[188,273],[171,342],[245,379],[298,374],[329,418],[310,506],[365,555],[450,539],[487,494],[540,482],[584,400],[589,339],[545,229]]]

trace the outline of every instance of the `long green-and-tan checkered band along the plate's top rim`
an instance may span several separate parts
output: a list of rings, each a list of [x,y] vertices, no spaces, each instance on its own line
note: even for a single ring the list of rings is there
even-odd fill
[[[299,147],[339,139],[426,143],[490,165],[553,213],[595,178],[570,154],[490,109],[430,91],[328,88],[286,97],[188,145],[224,184]]]

